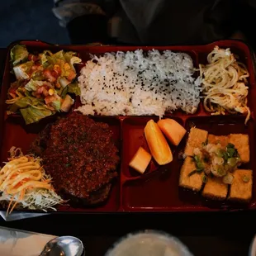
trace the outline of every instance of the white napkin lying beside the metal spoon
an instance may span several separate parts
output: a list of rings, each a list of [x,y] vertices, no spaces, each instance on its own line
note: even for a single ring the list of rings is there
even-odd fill
[[[38,256],[53,235],[44,235],[0,226],[1,256]]]

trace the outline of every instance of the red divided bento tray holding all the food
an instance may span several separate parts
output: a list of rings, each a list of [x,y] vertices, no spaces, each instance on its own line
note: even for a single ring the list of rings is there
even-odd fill
[[[28,40],[19,41],[17,43],[27,46],[29,51],[34,50],[74,50],[85,63],[90,59],[89,54],[101,55],[105,52],[127,51],[127,50],[173,50],[178,52],[186,52],[192,56],[194,66],[198,64],[206,64],[206,55],[213,50],[215,45],[224,48],[230,48],[232,53],[239,55],[239,58],[249,69],[249,107],[252,111],[252,118],[247,126],[244,126],[244,116],[211,116],[204,111],[202,105],[199,106],[197,112],[193,115],[184,114],[181,111],[168,114],[187,130],[192,125],[208,130],[214,135],[228,135],[230,133],[244,133],[249,135],[250,146],[250,163],[244,168],[252,168],[254,175],[256,172],[256,159],[254,159],[256,137],[254,111],[256,105],[254,97],[255,78],[254,78],[254,55],[249,47],[237,40],[221,40],[210,45],[190,45],[190,46],[89,46],[89,45],[49,45],[41,41]],[[12,74],[10,73],[9,52],[4,70],[1,92],[1,111],[0,111],[0,145],[1,145],[1,163],[7,160],[7,151],[12,146],[21,147],[24,153],[29,149],[31,142],[36,135],[50,121],[55,121],[55,117],[45,118],[37,124],[26,126],[20,116],[6,115],[7,89],[12,82]],[[76,107],[79,105],[79,99]],[[218,202],[206,200],[201,195],[186,191],[178,187],[178,178],[183,160],[178,155],[184,149],[187,138],[183,138],[178,147],[172,147],[173,162],[171,164],[159,167],[154,161],[149,165],[148,171],[144,175],[135,173],[130,169],[128,164],[140,146],[147,148],[144,137],[144,127],[147,121],[157,116],[94,116],[95,121],[107,122],[114,133],[114,140],[120,149],[121,167],[119,170],[119,178],[114,182],[110,197],[102,206],[90,208],[73,208],[71,206],[58,206],[57,212],[128,212],[128,211],[237,211],[243,209],[256,208],[256,182],[253,187],[253,200],[249,205],[235,205],[230,202]]]

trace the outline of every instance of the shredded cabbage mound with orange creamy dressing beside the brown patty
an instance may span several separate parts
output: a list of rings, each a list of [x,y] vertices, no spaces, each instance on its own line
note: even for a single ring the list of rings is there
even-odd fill
[[[64,200],[51,184],[50,175],[41,166],[41,159],[23,155],[20,148],[10,149],[11,158],[0,170],[0,201],[8,201],[7,215],[16,206],[30,210],[56,210]]]

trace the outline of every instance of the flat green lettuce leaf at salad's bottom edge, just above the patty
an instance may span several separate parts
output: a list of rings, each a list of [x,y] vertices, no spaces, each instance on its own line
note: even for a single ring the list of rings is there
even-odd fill
[[[54,113],[50,111],[50,109],[46,108],[44,105],[40,105],[37,107],[26,107],[22,108],[20,111],[26,122],[26,125],[35,123],[36,121],[40,121],[46,116],[51,116]]]

